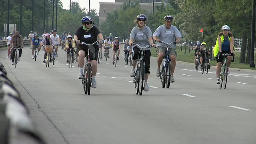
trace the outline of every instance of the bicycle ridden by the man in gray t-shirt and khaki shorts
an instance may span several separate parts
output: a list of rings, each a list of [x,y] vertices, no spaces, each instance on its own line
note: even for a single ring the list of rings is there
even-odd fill
[[[166,86],[166,88],[170,88],[171,82],[171,62],[169,56],[169,48],[171,44],[176,44],[176,42],[166,43],[164,41],[160,41],[159,43],[166,44],[166,53],[164,54],[164,63],[162,64],[162,70],[160,73],[160,79],[162,83],[162,88]]]

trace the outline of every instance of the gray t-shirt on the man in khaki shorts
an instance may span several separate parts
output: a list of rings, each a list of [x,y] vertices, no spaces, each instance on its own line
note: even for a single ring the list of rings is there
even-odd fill
[[[171,43],[175,38],[181,38],[181,34],[176,26],[171,26],[169,29],[165,25],[159,26],[154,32],[153,36],[157,36],[161,41]],[[166,44],[157,43],[156,46],[166,47]],[[171,44],[170,48],[175,48],[175,44]]]

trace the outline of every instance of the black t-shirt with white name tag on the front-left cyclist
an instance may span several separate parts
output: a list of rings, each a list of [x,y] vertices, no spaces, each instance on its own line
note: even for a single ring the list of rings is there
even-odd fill
[[[80,26],[75,35],[78,37],[78,40],[85,42],[86,44],[92,44],[97,41],[97,36],[100,34],[100,30],[96,26],[93,26],[88,32],[83,29],[83,26]],[[98,47],[98,46],[95,46]]]

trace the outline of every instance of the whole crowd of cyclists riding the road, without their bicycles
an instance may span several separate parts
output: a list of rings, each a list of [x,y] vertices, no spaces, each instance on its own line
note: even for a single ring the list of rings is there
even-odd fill
[[[100,32],[100,30],[93,26],[93,20],[90,18],[90,16],[85,16],[81,19],[82,26],[80,26],[75,34],[74,37],[72,37],[71,34],[68,34],[66,36],[66,32],[63,33],[62,36],[59,36],[57,34],[56,30],[52,30],[52,34],[48,34],[46,31],[44,31],[44,34],[42,35],[43,40],[38,38],[38,35],[31,34],[29,35],[31,39],[31,45],[32,45],[32,54],[34,54],[34,48],[39,48],[41,46],[53,46],[56,52],[56,57],[58,57],[58,46],[60,46],[60,40],[65,43],[64,50],[67,52],[67,62],[68,57],[70,54],[70,49],[73,49],[77,47],[76,54],[78,55],[78,78],[82,79],[83,74],[83,68],[84,68],[84,58],[88,55],[88,46],[85,44],[81,44],[81,42],[84,42],[86,44],[93,44],[94,42],[98,42],[98,44],[93,45],[95,48],[95,52],[92,53],[90,51],[90,64],[92,66],[92,88],[96,88],[96,73],[98,70],[97,67],[97,59],[98,52],[102,52],[102,48],[104,48],[104,54],[106,52],[110,51],[110,48],[112,48],[113,51],[113,64],[115,61],[115,54],[117,52],[117,60],[119,60],[120,50],[121,50],[121,43],[119,41],[118,37],[115,37],[113,41],[111,41],[110,38],[112,38],[112,34],[110,33],[111,37],[106,37],[106,39],[103,39],[103,35]],[[154,33],[151,32],[150,28],[146,26],[147,17],[144,14],[139,14],[136,19],[134,20],[134,23],[136,26],[132,28],[130,32],[130,39],[125,40],[125,44],[123,46],[123,50],[125,54],[132,57],[132,70],[130,71],[130,76],[134,77],[135,75],[135,68],[136,63],[138,62],[138,59],[140,59],[141,56],[141,48],[144,48],[144,67],[145,67],[145,75],[144,75],[144,91],[149,90],[148,86],[148,78],[150,74],[150,46],[157,48],[158,58],[157,58],[157,71],[156,76],[160,76],[160,66],[162,64],[162,60],[164,59],[166,55],[166,44],[165,43],[179,43],[181,41],[182,35],[180,34],[178,28],[176,26],[172,25],[173,22],[173,16],[166,15],[164,17],[164,24],[159,26]],[[15,35],[13,33],[10,33],[10,37],[8,37],[6,40],[10,42],[8,46],[12,46],[14,48],[21,46],[23,47],[23,39],[20,37],[18,32],[15,32]],[[73,39],[74,38],[74,39]],[[18,40],[19,39],[19,40]],[[154,43],[156,42],[156,44]],[[41,42],[41,43],[40,43]],[[139,46],[133,46],[135,44],[138,44]],[[149,45],[149,46],[148,46]],[[133,46],[131,48],[131,46]],[[148,47],[147,47],[148,46]],[[203,66],[204,61],[206,60],[208,63],[208,68],[210,69],[210,63],[207,60],[210,52],[206,50],[206,42],[198,43],[197,46],[194,48],[195,52],[195,61],[197,58],[197,55],[199,55],[200,64]],[[169,46],[169,58],[171,61],[171,82],[174,81],[174,70],[176,67],[176,44],[170,44]],[[44,48],[43,48],[44,50]],[[39,54],[40,49],[38,49]],[[44,50],[45,51],[45,50]],[[218,38],[216,40],[216,45],[214,48],[214,56],[217,57],[217,66],[216,66],[216,83],[220,83],[220,67],[223,60],[222,54],[229,53],[233,56],[234,51],[234,37],[232,36],[232,33],[230,32],[229,26],[222,26],[222,32],[218,34]],[[21,56],[22,49],[20,49],[19,57]],[[74,51],[73,51],[74,52]],[[46,60],[46,54],[44,53],[44,62]],[[13,54],[12,54],[13,55]],[[8,56],[9,56],[9,48],[8,48]],[[74,56],[74,54],[73,54]],[[32,58],[34,55],[32,56]],[[108,57],[109,58],[109,57]],[[228,57],[228,68],[231,64],[231,56]]]

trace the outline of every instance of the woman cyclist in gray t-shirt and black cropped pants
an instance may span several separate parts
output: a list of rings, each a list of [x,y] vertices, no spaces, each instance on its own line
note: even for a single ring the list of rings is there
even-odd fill
[[[151,45],[155,47],[154,41],[152,39],[152,32],[148,26],[146,26],[147,17],[144,14],[140,14],[137,16],[134,21],[137,26],[135,26],[130,33],[130,46],[132,44],[138,44],[142,47],[147,45]],[[130,73],[131,77],[135,75],[135,67],[139,58],[140,48],[133,48],[133,58],[132,58],[132,70]],[[149,68],[150,68],[150,48],[146,48],[144,52],[144,63],[145,63],[145,83],[144,83],[144,91],[148,91],[148,76],[149,76]]]

